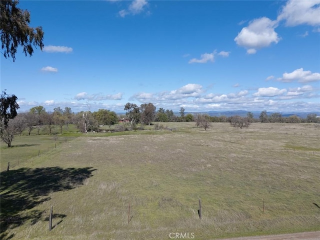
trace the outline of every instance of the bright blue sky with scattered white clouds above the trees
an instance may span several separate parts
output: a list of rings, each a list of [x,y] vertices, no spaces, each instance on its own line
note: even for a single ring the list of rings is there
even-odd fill
[[[319,111],[320,0],[20,1],[44,48],[1,55],[20,111]]]

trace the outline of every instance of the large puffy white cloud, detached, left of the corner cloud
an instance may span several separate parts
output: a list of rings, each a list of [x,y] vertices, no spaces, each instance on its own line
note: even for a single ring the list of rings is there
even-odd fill
[[[267,47],[272,42],[277,43],[280,40],[274,31],[276,26],[277,22],[267,17],[254,19],[249,22],[247,27],[241,29],[234,41],[239,46],[247,48],[248,54],[254,54],[257,49]]]

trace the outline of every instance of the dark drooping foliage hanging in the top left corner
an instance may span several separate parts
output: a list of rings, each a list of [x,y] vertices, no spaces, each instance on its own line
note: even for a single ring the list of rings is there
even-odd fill
[[[15,53],[18,46],[23,47],[25,56],[33,53],[33,46],[43,47],[43,34],[41,26],[30,27],[30,13],[17,7],[18,0],[0,1],[0,34],[1,49],[5,58],[12,57],[15,60]]]

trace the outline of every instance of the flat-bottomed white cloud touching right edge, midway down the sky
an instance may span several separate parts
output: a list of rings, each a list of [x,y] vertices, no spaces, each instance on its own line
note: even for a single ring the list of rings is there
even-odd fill
[[[298,82],[310,82],[310,81],[319,81],[320,73],[311,71],[304,71],[303,68],[296,69],[290,73],[284,72],[282,77],[277,78],[282,82],[292,82],[297,80]]]

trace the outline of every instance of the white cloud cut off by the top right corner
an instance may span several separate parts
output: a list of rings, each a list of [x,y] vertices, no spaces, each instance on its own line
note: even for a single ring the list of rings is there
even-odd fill
[[[288,0],[277,20],[285,20],[287,26],[320,25],[320,0]]]

